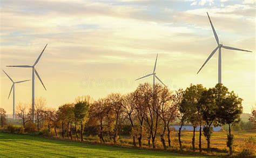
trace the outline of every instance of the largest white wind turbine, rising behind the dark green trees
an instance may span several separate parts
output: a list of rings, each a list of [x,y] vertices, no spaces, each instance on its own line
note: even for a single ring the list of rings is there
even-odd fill
[[[210,19],[210,16],[208,15],[208,12],[207,12],[207,16],[210,20],[210,23],[211,23],[211,26],[212,26],[212,31],[213,31],[213,34],[214,34],[214,37],[216,39],[216,42],[217,42],[217,47],[212,51],[212,53],[210,54],[210,56],[206,59],[205,63],[203,64],[203,66],[201,66],[200,70],[205,66],[205,64],[207,63],[208,60],[210,60],[210,58],[213,56],[213,54],[219,49],[219,61],[218,61],[218,83],[221,84],[221,48],[224,48],[224,49],[227,49],[227,50],[237,50],[237,51],[245,51],[245,52],[252,52],[252,51],[247,51],[247,50],[242,50],[242,49],[237,49],[237,48],[234,48],[234,47],[231,47],[231,46],[225,46],[223,44],[220,44],[219,43],[219,38],[218,38],[218,35],[213,27],[213,24],[212,24],[212,21]],[[200,71],[199,70],[199,71]],[[199,71],[197,72],[197,74],[199,73]]]

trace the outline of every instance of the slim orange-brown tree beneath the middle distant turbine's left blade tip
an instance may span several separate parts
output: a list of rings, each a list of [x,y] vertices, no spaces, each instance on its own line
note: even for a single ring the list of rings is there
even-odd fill
[[[135,132],[135,126],[134,126],[134,120],[135,120],[135,112],[136,112],[136,106],[135,105],[135,98],[133,93],[126,94],[123,97],[123,112],[125,119],[129,120],[131,123],[131,135],[132,135],[132,144],[133,147],[136,147],[136,142],[135,142],[135,137],[136,137],[136,132]]]

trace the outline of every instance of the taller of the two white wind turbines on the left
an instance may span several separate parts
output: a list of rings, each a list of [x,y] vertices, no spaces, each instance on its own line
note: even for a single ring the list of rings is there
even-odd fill
[[[35,73],[37,75],[37,78],[41,81],[42,85],[44,86],[43,84],[43,81],[41,80],[38,72],[36,71],[36,64],[38,63],[39,59],[41,58],[45,48],[46,48],[47,44],[45,45],[43,51],[41,52],[41,54],[39,55],[39,57],[37,58],[35,64],[33,65],[15,65],[15,66],[7,66],[7,67],[29,67],[29,68],[32,68],[32,121],[35,123]],[[46,88],[44,86],[44,89],[46,91]]]

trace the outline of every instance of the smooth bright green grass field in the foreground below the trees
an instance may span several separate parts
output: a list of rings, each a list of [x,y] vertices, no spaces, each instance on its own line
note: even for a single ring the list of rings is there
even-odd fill
[[[195,157],[0,133],[0,157]],[[197,156],[196,156],[197,157]],[[203,156],[206,157],[206,156]],[[212,156],[211,156],[212,157]]]

